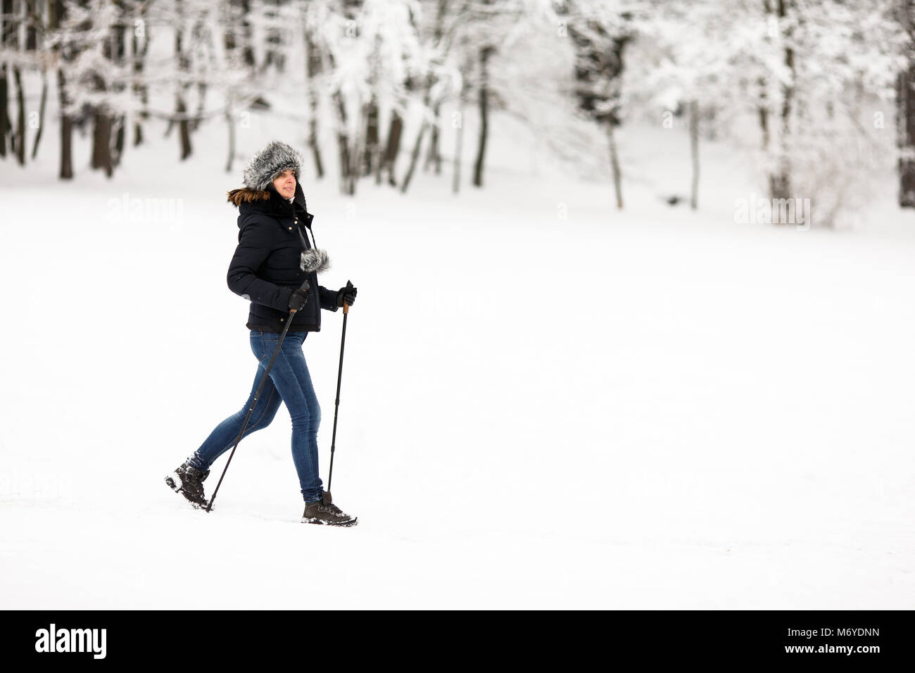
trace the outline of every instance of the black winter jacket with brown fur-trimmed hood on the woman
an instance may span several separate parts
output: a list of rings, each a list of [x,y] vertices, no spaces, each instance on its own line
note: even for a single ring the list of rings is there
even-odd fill
[[[320,309],[337,310],[337,292],[320,287],[317,273],[299,267],[303,248],[312,247],[308,233],[314,219],[307,212],[302,186],[296,184],[292,203],[273,185],[266,190],[231,190],[229,201],[239,209],[239,233],[226,281],[232,292],[251,300],[248,329],[283,331],[289,295],[307,279],[307,304],[293,316],[289,331],[320,331]]]

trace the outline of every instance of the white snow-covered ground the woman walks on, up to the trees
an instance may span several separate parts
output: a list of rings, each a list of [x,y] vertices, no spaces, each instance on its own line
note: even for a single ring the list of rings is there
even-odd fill
[[[507,133],[458,197],[305,176],[322,283],[360,289],[349,529],[299,523],[285,407],[209,515],[163,483],[255,372],[221,148],[72,184],[52,151],[0,165],[0,607],[911,608],[913,218],[888,192],[855,231],[736,224],[752,182],[714,145],[700,211],[672,209],[688,144],[650,137],[620,134],[622,213],[500,164]],[[325,482],[341,320],[305,342]]]

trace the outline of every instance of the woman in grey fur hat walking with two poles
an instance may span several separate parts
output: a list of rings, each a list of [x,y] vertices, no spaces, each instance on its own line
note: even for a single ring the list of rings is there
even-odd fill
[[[302,521],[352,526],[356,518],[333,504],[318,476],[321,409],[302,343],[309,331],[320,331],[320,309],[335,311],[344,301],[352,305],[356,288],[348,284],[334,292],[318,285],[318,271],[328,266],[328,258],[308,240],[314,216],[307,212],[298,181],[300,174],[301,157],[296,150],[273,142],[245,168],[244,187],[229,192],[229,201],[239,209],[240,231],[227,281],[232,292],[251,300],[247,327],[251,331],[251,350],[258,361],[257,372],[245,406],[213,429],[199,449],[167,476],[166,483],[191,505],[207,505],[202,482],[210,474],[213,461],[235,445],[285,321],[292,320],[244,436],[270,425],[284,402],[292,418],[292,457],[306,505]],[[303,290],[306,280],[308,287]],[[296,312],[290,319],[292,309]]]

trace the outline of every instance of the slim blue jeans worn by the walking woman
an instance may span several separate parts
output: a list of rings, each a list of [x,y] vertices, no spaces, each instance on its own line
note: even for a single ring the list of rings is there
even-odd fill
[[[321,423],[321,407],[318,406],[315,388],[311,385],[305,353],[302,353],[302,342],[305,341],[306,335],[305,331],[286,333],[280,352],[276,354],[274,366],[270,368],[270,376],[264,383],[264,391],[254,406],[247,428],[244,429],[244,437],[270,425],[280,403],[285,402],[289,417],[292,418],[292,460],[296,463],[302,497],[306,503],[313,503],[320,500],[324,492],[321,478],[318,476],[318,426]],[[244,418],[253,404],[257,386],[261,385],[261,379],[264,378],[264,372],[276,350],[279,338],[279,334],[269,331],[251,332],[251,350],[258,364],[248,401],[242,409],[223,420],[210,432],[210,437],[188,458],[190,465],[198,470],[208,470],[213,461],[235,446],[238,433],[242,431]]]

